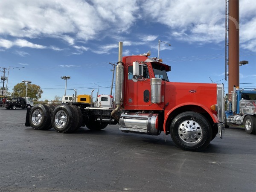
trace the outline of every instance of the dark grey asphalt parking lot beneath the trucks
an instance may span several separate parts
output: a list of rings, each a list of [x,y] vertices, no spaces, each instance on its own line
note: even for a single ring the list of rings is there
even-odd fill
[[[1,192],[256,191],[256,136],[242,128],[189,152],[163,133],[111,125],[60,134],[25,127],[25,116],[26,109],[0,108]]]

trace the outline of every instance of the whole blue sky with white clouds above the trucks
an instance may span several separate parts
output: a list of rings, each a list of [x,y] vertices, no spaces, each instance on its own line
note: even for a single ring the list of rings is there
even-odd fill
[[[110,94],[118,42],[123,56],[150,50],[157,57],[160,40],[171,44],[160,44],[160,58],[172,67],[169,81],[211,83],[210,77],[227,88],[224,18],[225,0],[1,0],[0,66],[11,67],[9,90],[30,80],[44,91],[40,100],[64,95],[61,76],[71,76],[67,95],[98,86],[99,94]],[[252,89],[255,0],[240,0],[239,30],[240,61],[249,61],[240,67],[240,87]]]

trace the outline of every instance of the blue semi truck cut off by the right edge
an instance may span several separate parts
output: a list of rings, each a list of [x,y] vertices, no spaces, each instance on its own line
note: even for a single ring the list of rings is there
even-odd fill
[[[244,125],[246,133],[255,134],[256,90],[239,90],[234,86],[230,98],[225,111],[225,128],[230,125]]]

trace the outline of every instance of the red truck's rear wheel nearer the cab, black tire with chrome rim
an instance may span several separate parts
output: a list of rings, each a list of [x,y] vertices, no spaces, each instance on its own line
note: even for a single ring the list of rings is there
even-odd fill
[[[76,129],[76,111],[70,105],[58,105],[52,114],[52,127],[59,133],[71,133]]]

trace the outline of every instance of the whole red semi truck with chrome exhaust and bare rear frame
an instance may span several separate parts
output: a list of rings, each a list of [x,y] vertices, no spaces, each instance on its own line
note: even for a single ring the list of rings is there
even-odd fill
[[[101,130],[118,124],[125,133],[170,134],[183,150],[200,151],[224,130],[223,84],[170,82],[169,65],[149,54],[122,57],[116,66],[115,108],[35,105],[26,126],[71,133],[81,126]]]

